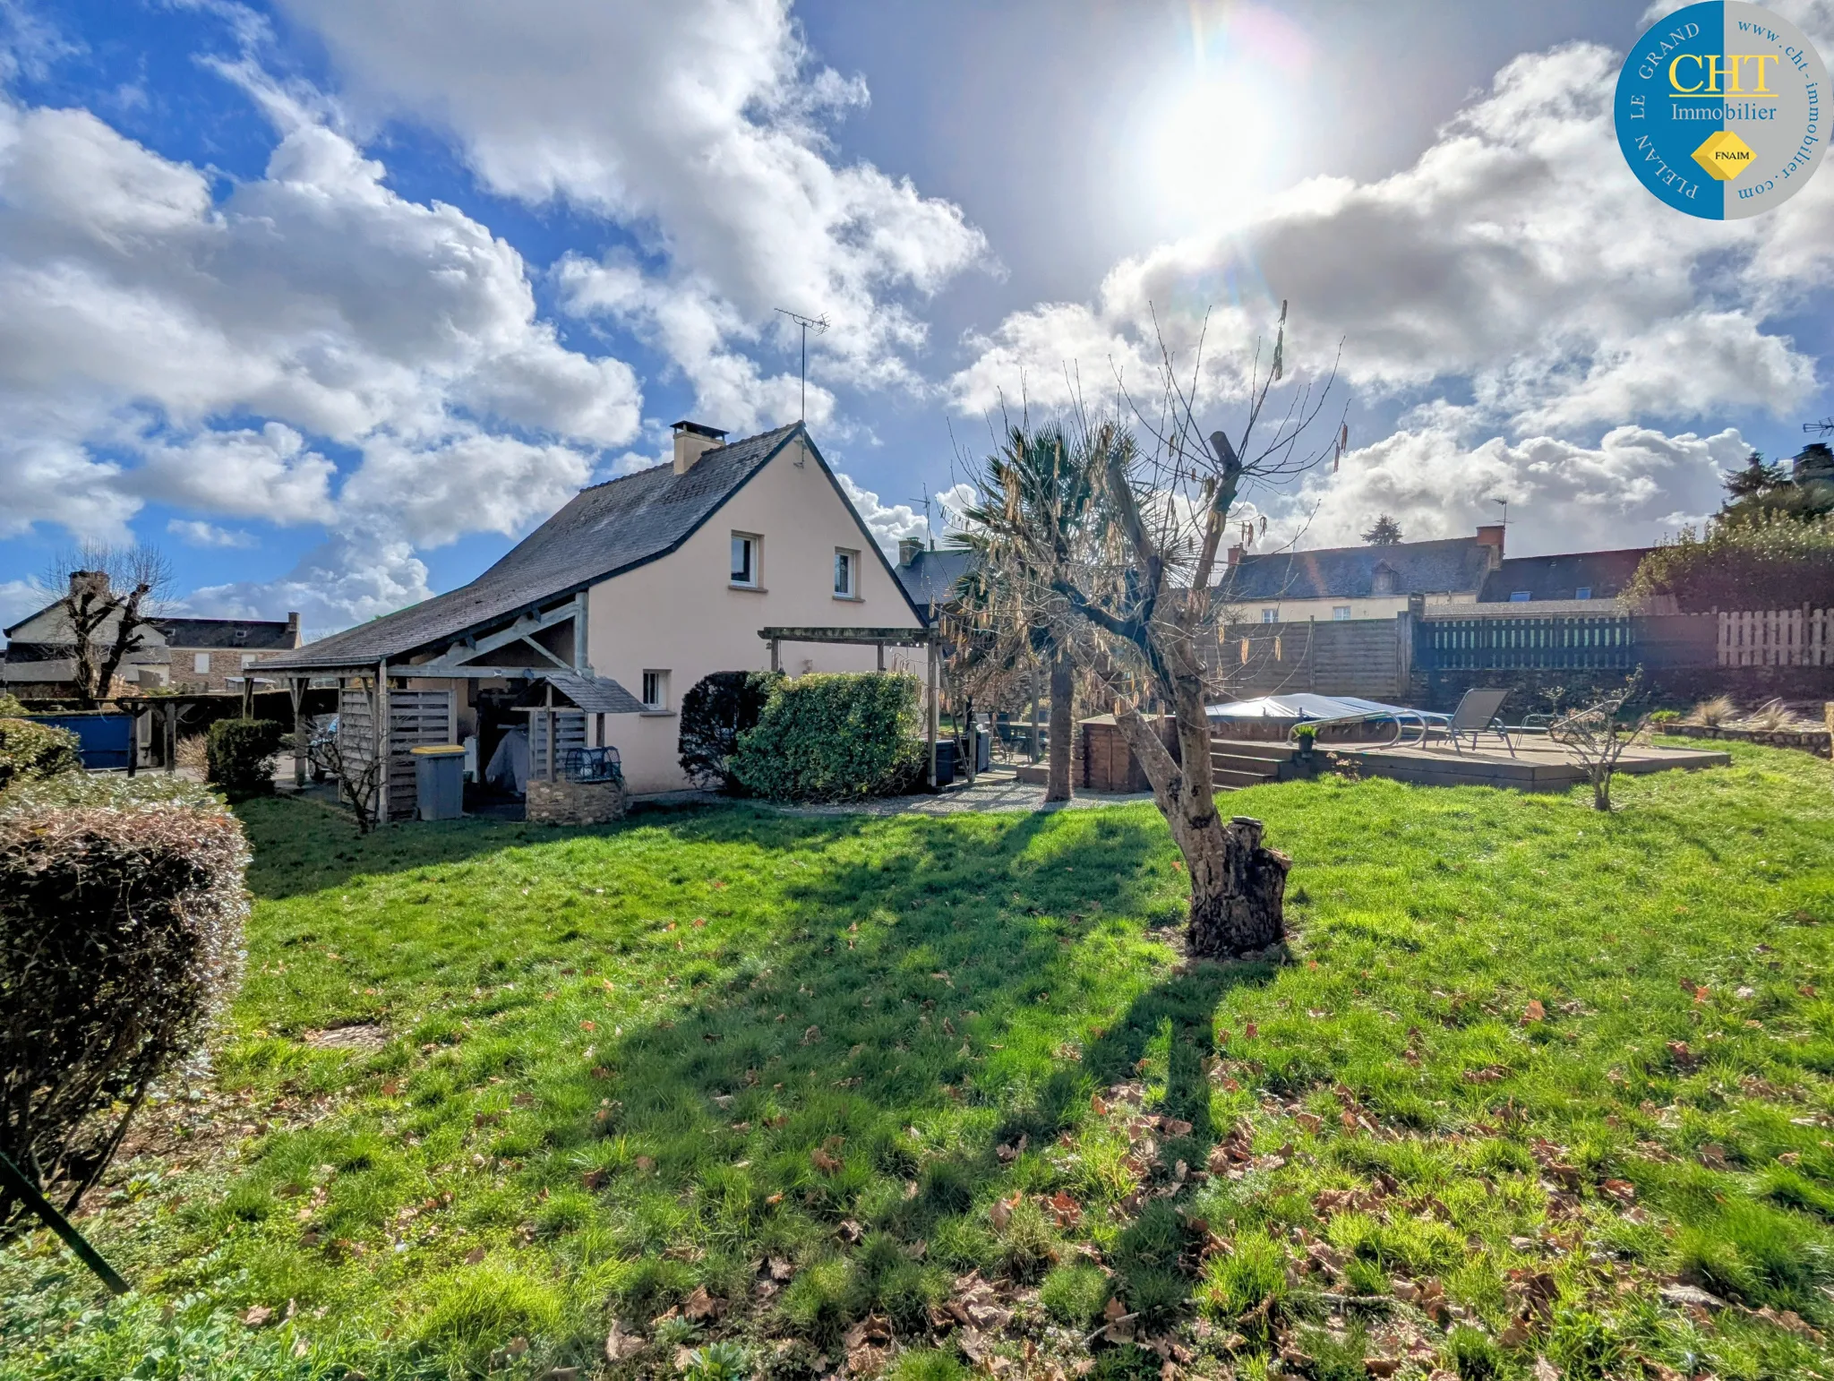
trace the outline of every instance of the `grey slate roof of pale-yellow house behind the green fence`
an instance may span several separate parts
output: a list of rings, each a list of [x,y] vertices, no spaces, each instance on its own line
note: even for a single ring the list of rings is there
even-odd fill
[[[1476,537],[1392,547],[1324,547],[1243,556],[1223,585],[1229,600],[1353,600],[1372,594],[1476,594],[1495,548]],[[1377,567],[1392,589],[1377,589]]]

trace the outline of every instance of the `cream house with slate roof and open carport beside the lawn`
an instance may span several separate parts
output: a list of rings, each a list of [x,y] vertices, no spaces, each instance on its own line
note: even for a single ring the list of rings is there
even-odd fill
[[[561,748],[581,741],[569,732],[609,743],[631,790],[657,792],[688,785],[680,697],[712,671],[768,668],[763,627],[919,629],[923,616],[800,422],[732,444],[677,422],[673,464],[581,490],[470,585],[262,671],[354,679],[385,668],[391,691],[436,693],[440,732],[477,735],[481,765],[519,724],[539,757],[545,712],[532,688],[547,682],[585,712],[576,728],[556,724]],[[877,655],[785,642],[783,669],[871,671]],[[921,655],[911,660],[921,673]],[[631,697],[642,713],[618,712],[635,708]]]

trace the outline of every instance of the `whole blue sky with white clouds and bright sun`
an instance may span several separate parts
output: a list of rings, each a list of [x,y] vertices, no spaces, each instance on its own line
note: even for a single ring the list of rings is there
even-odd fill
[[[1282,299],[1352,453],[1269,541],[1651,541],[1834,411],[1834,180],[1709,224],[1616,150],[1658,13],[0,0],[0,622],[84,537],[314,631],[451,589],[679,416],[794,418],[776,306],[886,541],[1157,332],[1231,424]]]

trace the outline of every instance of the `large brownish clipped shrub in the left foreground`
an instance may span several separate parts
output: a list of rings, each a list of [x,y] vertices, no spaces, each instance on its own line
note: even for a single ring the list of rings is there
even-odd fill
[[[64,1201],[240,968],[249,853],[202,787],[64,774],[0,796],[0,1152]],[[0,1194],[0,1234],[24,1210]]]

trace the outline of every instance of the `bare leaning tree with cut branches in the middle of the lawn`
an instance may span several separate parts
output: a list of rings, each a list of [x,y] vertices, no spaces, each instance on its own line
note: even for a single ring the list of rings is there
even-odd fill
[[[1322,446],[1308,442],[1335,369],[1275,402],[1284,372],[1282,306],[1271,359],[1264,363],[1256,350],[1245,370],[1240,438],[1216,429],[1205,444],[1198,424],[1203,337],[1188,383],[1161,337],[1161,378],[1150,405],[1117,381],[1115,414],[1075,414],[1069,444],[1099,492],[1100,523],[1086,525],[1082,539],[1064,552],[1047,550],[1023,528],[1001,534],[987,552],[990,567],[1025,591],[1029,614],[1047,620],[1056,642],[1113,697],[1121,734],[1185,856],[1196,954],[1262,950],[1286,934],[1287,858],[1262,847],[1258,820],[1218,812],[1207,713],[1221,686],[1218,616],[1229,603],[1220,556],[1243,484],[1278,482],[1342,453],[1341,427]],[[1146,704],[1172,715],[1172,746],[1141,712]]]

